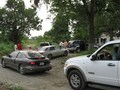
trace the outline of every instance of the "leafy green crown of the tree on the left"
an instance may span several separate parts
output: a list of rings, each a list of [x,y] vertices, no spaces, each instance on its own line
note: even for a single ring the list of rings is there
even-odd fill
[[[2,15],[2,25],[5,36],[14,43],[19,43],[24,35],[30,35],[30,30],[40,30],[41,22],[36,15],[36,8],[25,8],[22,0],[8,0]]]

